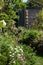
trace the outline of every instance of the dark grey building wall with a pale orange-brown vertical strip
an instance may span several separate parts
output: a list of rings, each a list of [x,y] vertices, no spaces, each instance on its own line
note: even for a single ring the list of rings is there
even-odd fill
[[[34,25],[34,20],[37,18],[37,14],[40,12],[41,7],[28,7],[20,12],[19,25],[26,26],[27,28]]]

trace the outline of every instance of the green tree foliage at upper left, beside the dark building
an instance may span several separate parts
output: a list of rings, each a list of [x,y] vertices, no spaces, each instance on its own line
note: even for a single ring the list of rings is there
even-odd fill
[[[18,13],[19,10],[25,8],[26,4],[22,0],[3,0],[3,3],[2,10],[0,10],[0,20],[5,20],[7,23],[6,29],[11,30],[12,26],[14,27],[14,19],[19,19],[19,15],[16,12]]]

